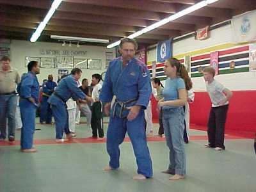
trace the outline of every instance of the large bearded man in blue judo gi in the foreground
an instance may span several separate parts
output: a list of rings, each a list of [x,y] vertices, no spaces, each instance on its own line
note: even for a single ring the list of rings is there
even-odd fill
[[[134,175],[133,179],[147,179],[153,174],[144,118],[144,109],[147,108],[152,93],[150,74],[147,66],[134,58],[138,47],[135,40],[123,38],[119,46],[122,56],[109,63],[99,98],[106,102],[104,111],[108,114],[110,102],[114,95],[116,97],[107,132],[110,161],[104,170],[115,170],[120,166],[119,145],[127,132],[138,165],[138,175]]]

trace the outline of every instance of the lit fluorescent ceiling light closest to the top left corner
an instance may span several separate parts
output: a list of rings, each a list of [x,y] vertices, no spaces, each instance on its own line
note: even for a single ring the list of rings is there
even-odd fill
[[[50,8],[49,12],[45,16],[44,20],[42,22],[40,22],[39,26],[36,28],[36,31],[31,36],[31,38],[30,38],[31,42],[35,43],[36,40],[39,38],[39,36],[41,35],[41,33],[44,30],[45,26],[47,25],[47,23],[51,19],[52,15],[54,14],[54,12],[58,8],[58,6],[60,6],[61,1],[62,0],[54,0],[52,2],[52,5],[51,5],[51,8]]]

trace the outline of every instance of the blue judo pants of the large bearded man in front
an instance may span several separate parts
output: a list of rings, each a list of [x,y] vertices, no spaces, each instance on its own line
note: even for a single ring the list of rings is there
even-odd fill
[[[109,166],[113,169],[120,166],[119,145],[124,141],[126,132],[131,139],[138,166],[138,174],[145,175],[145,177],[148,178],[152,177],[152,161],[147,146],[143,110],[141,110],[139,115],[132,121],[128,121],[127,118],[110,118],[107,132],[107,151],[110,156]]]

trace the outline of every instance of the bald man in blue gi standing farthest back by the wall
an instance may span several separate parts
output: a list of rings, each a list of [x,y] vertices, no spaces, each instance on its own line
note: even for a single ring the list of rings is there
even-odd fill
[[[54,92],[54,88],[57,86],[57,83],[53,81],[53,76],[50,74],[48,76],[48,81],[42,85],[42,102],[40,110],[40,123],[52,124],[52,109],[51,104],[47,102],[49,97]]]

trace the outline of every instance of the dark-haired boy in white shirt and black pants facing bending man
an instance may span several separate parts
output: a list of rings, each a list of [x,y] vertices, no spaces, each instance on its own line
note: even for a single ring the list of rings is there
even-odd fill
[[[99,100],[100,91],[102,84],[100,83],[101,76],[100,74],[92,75],[92,138],[97,139],[99,134],[99,140],[104,138],[103,131],[103,113],[102,113],[102,102]]]

